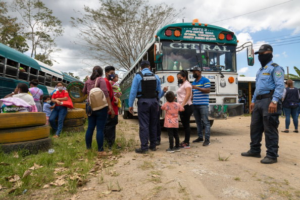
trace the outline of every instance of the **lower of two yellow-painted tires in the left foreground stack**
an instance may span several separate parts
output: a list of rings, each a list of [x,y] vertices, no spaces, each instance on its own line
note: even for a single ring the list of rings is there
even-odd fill
[[[30,141],[49,137],[49,126],[32,126],[0,130],[0,143]]]

